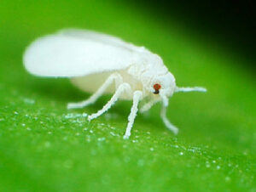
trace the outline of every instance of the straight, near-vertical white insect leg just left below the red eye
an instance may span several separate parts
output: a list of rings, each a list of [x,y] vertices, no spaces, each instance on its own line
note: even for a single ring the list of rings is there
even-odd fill
[[[124,138],[127,139],[131,136],[131,127],[134,123],[135,117],[137,116],[137,105],[142,99],[143,93],[141,91],[136,91],[133,93],[133,104],[131,107],[131,113],[128,116],[128,125],[126,127]]]

